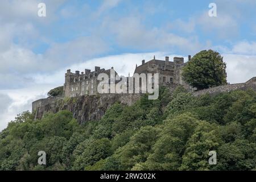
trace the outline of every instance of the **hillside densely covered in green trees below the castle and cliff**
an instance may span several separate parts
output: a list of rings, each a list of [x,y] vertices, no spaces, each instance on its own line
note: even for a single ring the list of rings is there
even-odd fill
[[[0,170],[255,170],[256,93],[160,89],[79,125],[70,111],[19,114],[0,134]],[[38,165],[38,151],[47,154]],[[217,152],[217,165],[208,152]]]

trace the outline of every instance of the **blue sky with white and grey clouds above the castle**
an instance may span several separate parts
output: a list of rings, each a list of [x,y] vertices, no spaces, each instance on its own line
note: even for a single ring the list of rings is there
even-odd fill
[[[228,82],[245,82],[256,76],[255,8],[255,0],[1,0],[0,131],[63,85],[67,69],[97,65],[127,76],[154,55],[187,60],[214,49]]]

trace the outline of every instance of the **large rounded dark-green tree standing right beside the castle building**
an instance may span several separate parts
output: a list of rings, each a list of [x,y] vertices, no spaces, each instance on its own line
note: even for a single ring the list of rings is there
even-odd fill
[[[226,64],[220,53],[204,50],[183,68],[183,79],[197,90],[226,84]]]

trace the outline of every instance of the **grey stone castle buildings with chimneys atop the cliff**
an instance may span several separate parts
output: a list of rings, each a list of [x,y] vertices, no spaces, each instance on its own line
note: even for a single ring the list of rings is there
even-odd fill
[[[189,55],[188,60],[190,59],[191,56]],[[183,85],[185,89],[191,91],[191,86],[186,84],[181,77],[181,68],[183,68],[183,66],[183,57],[174,57],[174,61],[170,61],[168,56],[166,56],[165,60],[157,60],[154,56],[154,59],[147,61],[146,63],[145,60],[142,60],[141,65],[136,65],[134,74],[138,73],[140,75],[141,73],[151,73],[154,75],[155,73],[158,73],[159,86]],[[94,71],[85,69],[85,72],[81,73],[80,71],[72,73],[71,70],[68,69],[67,73],[65,73],[63,96],[76,97],[97,94],[97,86],[100,84],[100,81],[97,80],[97,76],[100,73],[106,73],[106,75],[110,77],[110,72],[113,69],[113,67],[107,70],[104,68],[95,67]],[[118,76],[117,72],[114,71],[114,73],[116,76]],[[125,80],[123,78],[127,78],[126,80],[129,80],[129,77],[121,77],[121,80]],[[129,85],[129,83],[126,82],[125,85]]]

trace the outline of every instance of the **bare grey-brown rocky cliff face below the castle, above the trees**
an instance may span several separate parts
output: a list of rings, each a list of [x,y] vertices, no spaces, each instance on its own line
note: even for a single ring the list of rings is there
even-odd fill
[[[105,111],[115,102],[132,105],[141,97],[140,94],[101,94],[101,96],[78,96],[73,98],[48,97],[32,103],[35,119],[43,117],[44,113],[57,113],[69,110],[79,123],[101,119]]]

